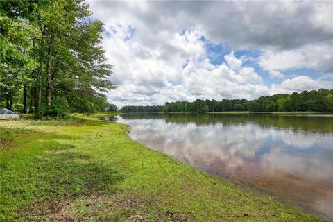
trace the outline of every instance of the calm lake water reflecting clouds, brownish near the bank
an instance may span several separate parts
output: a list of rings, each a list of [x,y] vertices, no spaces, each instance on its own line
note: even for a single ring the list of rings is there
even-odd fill
[[[333,115],[123,114],[130,137],[333,219]]]

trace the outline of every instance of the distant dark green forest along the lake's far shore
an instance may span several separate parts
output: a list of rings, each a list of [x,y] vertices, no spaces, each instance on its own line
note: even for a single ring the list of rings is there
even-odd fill
[[[124,106],[120,112],[223,112],[223,111],[317,111],[333,112],[333,89],[318,89],[303,91],[300,94],[275,94],[261,96],[259,99],[248,101],[246,99],[203,100],[194,102],[177,101],[164,105]]]

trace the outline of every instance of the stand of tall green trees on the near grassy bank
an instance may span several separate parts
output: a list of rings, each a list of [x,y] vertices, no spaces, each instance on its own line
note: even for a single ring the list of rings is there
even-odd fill
[[[39,115],[107,108],[103,23],[81,0],[0,1],[0,108]]]

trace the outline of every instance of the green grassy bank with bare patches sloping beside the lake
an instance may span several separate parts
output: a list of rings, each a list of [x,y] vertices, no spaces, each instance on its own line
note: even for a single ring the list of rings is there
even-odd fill
[[[1,121],[0,221],[321,221],[94,117]]]

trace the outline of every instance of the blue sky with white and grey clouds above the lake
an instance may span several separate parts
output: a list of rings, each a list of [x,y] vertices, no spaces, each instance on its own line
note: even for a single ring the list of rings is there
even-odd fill
[[[119,107],[333,88],[333,1],[88,2]]]

